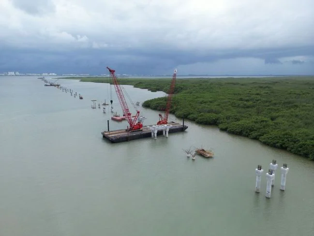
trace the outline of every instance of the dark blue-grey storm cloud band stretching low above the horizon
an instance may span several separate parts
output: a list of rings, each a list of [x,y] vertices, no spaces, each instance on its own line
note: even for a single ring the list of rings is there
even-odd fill
[[[209,51],[208,53],[203,51],[202,55],[201,53],[193,54],[191,51],[156,49],[129,49],[117,52],[109,49],[90,48],[71,51],[8,48],[2,50],[0,71],[19,69],[21,73],[50,71],[60,74],[74,72],[106,74],[105,67],[109,66],[115,68],[120,74],[151,74],[158,73],[158,71],[171,72],[176,66],[199,62],[217,62],[236,58],[269,60],[269,55],[274,58],[281,58],[299,55],[299,53],[314,55],[311,54],[314,52],[314,47],[287,48],[286,50],[269,48],[263,50]],[[295,64],[294,61],[292,63]],[[232,68],[233,65],[230,64],[229,67]]]

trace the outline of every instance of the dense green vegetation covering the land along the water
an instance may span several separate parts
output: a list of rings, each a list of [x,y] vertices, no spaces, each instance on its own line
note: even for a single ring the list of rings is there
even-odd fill
[[[120,83],[167,92],[170,78]],[[143,106],[163,110],[165,103],[161,97]],[[177,79],[171,112],[314,159],[314,77]]]

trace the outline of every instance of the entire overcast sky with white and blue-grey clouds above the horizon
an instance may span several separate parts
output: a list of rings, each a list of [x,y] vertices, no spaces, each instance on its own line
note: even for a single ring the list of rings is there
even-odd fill
[[[314,74],[314,0],[0,0],[0,73]]]

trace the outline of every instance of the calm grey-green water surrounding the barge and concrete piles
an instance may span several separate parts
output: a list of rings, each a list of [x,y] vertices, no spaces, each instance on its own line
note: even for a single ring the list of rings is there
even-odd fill
[[[108,84],[59,82],[84,99],[36,77],[0,77],[0,236],[314,236],[313,161],[187,121],[169,138],[112,144],[101,135],[111,113],[90,108],[109,100]],[[165,95],[124,87],[134,102]],[[140,110],[144,124],[157,122]],[[215,157],[185,157],[199,146]],[[267,199],[272,159],[290,170],[285,191],[277,171]]]

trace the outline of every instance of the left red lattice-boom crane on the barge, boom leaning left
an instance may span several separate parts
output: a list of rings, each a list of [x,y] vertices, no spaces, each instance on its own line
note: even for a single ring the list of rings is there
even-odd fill
[[[130,126],[130,127],[128,127],[128,130],[137,130],[137,129],[141,129],[141,128],[143,127],[143,124],[140,123],[140,122],[137,122],[137,123],[136,123],[137,118],[138,118],[138,116],[139,116],[139,110],[137,110],[137,109],[135,108],[134,103],[133,103],[133,102],[131,101],[131,99],[130,99],[130,101],[132,102],[132,104],[133,104],[133,106],[134,106],[134,108],[135,108],[135,110],[136,110],[136,115],[133,116],[133,117],[131,116],[131,112],[130,112],[130,110],[129,110],[129,108],[128,108],[128,104],[127,104],[126,101],[125,101],[125,98],[124,98],[122,89],[121,89],[121,87],[120,87],[119,81],[118,81],[118,79],[117,79],[117,77],[116,77],[116,75],[115,75],[115,72],[116,72],[116,71],[110,69],[108,66],[107,66],[107,69],[109,70],[110,77],[111,77],[111,79],[112,79],[112,81],[113,81],[113,84],[114,84],[114,86],[115,86],[115,90],[116,90],[116,93],[117,93],[117,95],[118,95],[118,99],[119,99],[119,102],[120,102],[120,105],[121,105],[121,108],[122,108],[122,111],[123,111],[123,115],[126,117],[128,123],[129,123],[129,126]]]

